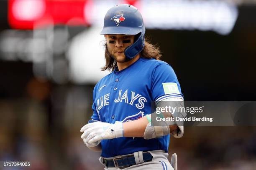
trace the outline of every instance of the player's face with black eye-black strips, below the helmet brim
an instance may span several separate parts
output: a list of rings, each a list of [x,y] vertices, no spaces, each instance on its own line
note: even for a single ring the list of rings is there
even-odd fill
[[[126,62],[128,59],[124,55],[126,47],[134,42],[134,35],[105,35],[108,45],[108,51],[117,62]]]

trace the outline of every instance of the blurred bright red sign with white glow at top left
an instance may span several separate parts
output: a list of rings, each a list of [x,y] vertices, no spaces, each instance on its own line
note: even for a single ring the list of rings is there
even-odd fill
[[[86,26],[89,23],[84,15],[85,6],[87,10],[92,9],[92,1],[9,0],[8,22],[14,29],[36,29],[58,24]]]

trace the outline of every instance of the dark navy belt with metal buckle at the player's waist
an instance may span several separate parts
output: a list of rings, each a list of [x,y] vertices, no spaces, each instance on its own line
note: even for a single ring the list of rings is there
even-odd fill
[[[144,162],[149,162],[152,160],[153,156],[150,153],[142,153]],[[103,158],[103,163],[108,167],[124,168],[132,165],[136,165],[134,155],[117,157],[111,160]]]

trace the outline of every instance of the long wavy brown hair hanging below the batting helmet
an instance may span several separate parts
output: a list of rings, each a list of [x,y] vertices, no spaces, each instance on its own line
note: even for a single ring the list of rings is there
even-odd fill
[[[110,70],[114,71],[117,67],[117,63],[113,57],[111,57],[110,52],[108,51],[108,45],[107,42],[105,42],[105,59],[106,59],[106,65],[101,68],[102,71]],[[156,45],[153,45],[149,42],[148,38],[145,39],[145,46],[143,50],[140,52],[141,57],[143,58],[154,58],[156,60],[160,60],[161,58],[161,52],[159,50],[159,47]]]

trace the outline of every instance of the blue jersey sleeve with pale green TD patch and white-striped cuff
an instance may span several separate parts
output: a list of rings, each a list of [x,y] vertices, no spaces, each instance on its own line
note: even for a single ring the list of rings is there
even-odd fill
[[[160,64],[152,75],[152,98],[162,100],[184,100],[177,76],[170,65]]]

